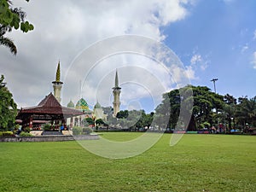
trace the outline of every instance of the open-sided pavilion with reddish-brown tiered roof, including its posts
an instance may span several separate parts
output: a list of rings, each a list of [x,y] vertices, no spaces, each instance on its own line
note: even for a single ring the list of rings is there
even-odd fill
[[[82,115],[83,112],[62,107],[52,93],[39,102],[38,106],[21,108],[16,117],[16,121],[20,122],[22,127],[29,126],[31,129],[33,123],[36,122],[50,122],[52,126],[66,125],[67,118]]]

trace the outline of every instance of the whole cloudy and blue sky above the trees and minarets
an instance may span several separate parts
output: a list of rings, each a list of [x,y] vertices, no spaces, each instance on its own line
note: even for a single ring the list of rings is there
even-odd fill
[[[185,84],[256,96],[254,0],[37,0],[22,7],[35,29],[13,31],[18,54],[0,47],[0,73],[18,108],[53,92],[61,63],[63,106],[81,96],[121,109],[154,111],[164,92]]]

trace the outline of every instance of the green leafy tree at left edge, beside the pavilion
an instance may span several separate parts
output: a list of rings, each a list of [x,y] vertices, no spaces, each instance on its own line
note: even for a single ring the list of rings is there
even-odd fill
[[[0,79],[0,130],[7,131],[15,125],[17,105],[3,80],[2,75]]]

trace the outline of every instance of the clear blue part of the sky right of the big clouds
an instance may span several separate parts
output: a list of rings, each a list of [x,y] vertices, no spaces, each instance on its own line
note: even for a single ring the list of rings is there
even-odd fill
[[[256,95],[255,9],[255,1],[199,1],[189,8],[186,19],[162,28],[165,43],[184,65],[191,65],[193,55],[201,55],[192,84],[213,90],[210,79],[217,78],[219,94]]]

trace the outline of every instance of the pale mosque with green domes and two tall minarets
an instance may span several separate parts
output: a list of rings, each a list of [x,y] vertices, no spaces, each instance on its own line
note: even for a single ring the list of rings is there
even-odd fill
[[[61,64],[58,62],[57,71],[55,75],[55,81],[52,82],[54,88],[54,96],[58,102],[61,103],[61,88],[63,82],[61,82]],[[121,88],[119,87],[119,78],[118,72],[115,73],[114,79],[114,87],[113,89],[113,116],[115,117],[117,113],[119,113],[120,107],[120,92]],[[73,125],[81,125],[83,119],[91,118],[91,119],[102,119],[103,121],[107,121],[107,114],[104,113],[101,104],[97,101],[96,105],[92,110],[90,110],[88,103],[84,100],[84,98],[80,98],[76,105],[72,100],[67,103],[67,108],[78,109],[83,112],[82,115],[67,118],[67,125],[72,127]]]

